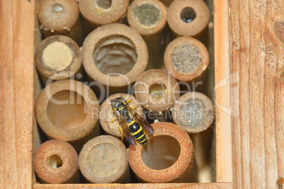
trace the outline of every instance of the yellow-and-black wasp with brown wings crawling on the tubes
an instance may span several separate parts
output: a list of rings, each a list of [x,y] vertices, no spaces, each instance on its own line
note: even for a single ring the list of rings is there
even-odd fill
[[[147,145],[147,137],[143,128],[145,128],[151,135],[154,134],[154,129],[150,123],[139,116],[134,109],[129,106],[129,102],[124,97],[118,97],[111,100],[114,118],[111,122],[119,121],[119,130],[125,136],[126,140],[131,145],[136,145],[135,140],[141,145]]]

